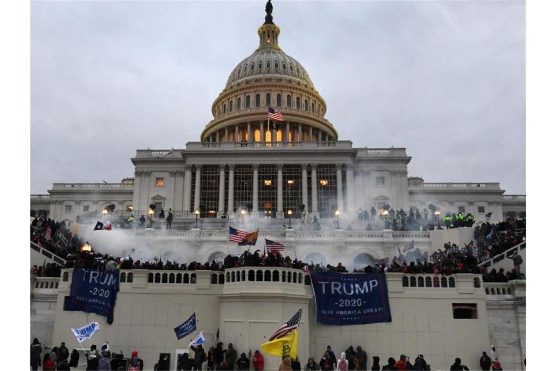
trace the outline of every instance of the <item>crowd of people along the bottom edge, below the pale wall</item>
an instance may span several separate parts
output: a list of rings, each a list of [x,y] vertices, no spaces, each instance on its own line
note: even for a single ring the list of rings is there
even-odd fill
[[[46,350],[46,349],[45,349]],[[191,346],[190,350],[193,352],[184,352],[178,356],[176,368],[178,370],[250,370],[262,371],[265,369],[265,357],[259,350],[255,350],[253,356],[251,350],[246,353],[241,353],[238,357],[238,352],[234,349],[232,343],[228,344],[227,348],[223,348],[223,343],[219,342],[206,351],[203,344]],[[33,339],[31,344],[31,367],[33,370],[38,370],[41,366],[43,370],[70,370],[81,366],[79,363],[80,354],[77,349],[73,349],[71,354],[66,348],[65,343],[61,343],[59,347],[53,347],[50,352],[46,351],[41,358],[43,348],[38,339]],[[83,365],[87,364],[87,370],[143,370],[144,363],[137,350],[131,352],[130,358],[124,358],[122,353],[110,353],[109,343],[102,344],[102,347],[97,350],[96,345],[91,345],[90,350],[85,351],[85,360]],[[383,364],[382,364],[383,363]],[[346,371],[346,370],[430,370],[431,366],[427,363],[422,354],[418,354],[411,361],[410,357],[405,354],[400,354],[397,359],[389,357],[387,363],[381,362],[377,355],[368,359],[368,354],[363,348],[358,345],[355,349],[352,345],[344,352],[340,353],[337,358],[335,352],[329,345],[323,356],[319,359],[309,357],[306,363],[301,363],[298,357],[284,358],[282,363],[278,366],[279,370],[283,371]],[[494,345],[491,345],[490,355],[483,352],[479,359],[480,368],[482,370],[502,370],[501,363],[497,358]],[[267,365],[268,367],[269,365]],[[275,368],[273,365],[272,368]],[[169,370],[170,359],[167,354],[161,353],[159,360],[153,366],[154,370]],[[460,358],[455,359],[455,363],[451,366],[451,370],[468,370],[466,365],[462,364]]]

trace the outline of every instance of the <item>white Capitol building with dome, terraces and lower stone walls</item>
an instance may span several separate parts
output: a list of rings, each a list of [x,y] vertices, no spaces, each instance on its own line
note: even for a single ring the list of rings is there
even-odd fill
[[[325,118],[326,102],[309,73],[279,47],[280,32],[267,12],[257,29],[256,50],[233,68],[212,104],[214,118],[198,142],[188,142],[183,149],[137,150],[131,159],[135,176],[121,183],[55,183],[48,195],[31,195],[32,215],[86,225],[81,229],[85,231],[97,220],[117,224],[130,215],[135,222],[141,215],[148,218],[149,205],[154,204],[153,228],[89,232],[85,237],[99,250],[114,245],[118,236],[122,251],[148,244],[157,246],[157,256],[160,251],[166,258],[204,262],[242,251],[228,243],[228,225],[247,231],[259,228],[261,240],[286,245],[285,255],[334,265],[342,261],[349,267],[366,258],[398,255],[397,249],[412,240],[422,251],[432,251],[447,240],[472,239],[471,228],[385,230],[377,217],[359,220],[359,209],[381,210],[388,204],[395,210],[423,210],[433,204],[442,215],[470,212],[476,220],[487,212],[492,212],[491,221],[525,217],[525,195],[505,195],[498,183],[427,183],[408,176],[412,157],[404,148],[355,148],[350,141],[338,140],[335,126]],[[268,107],[280,111],[285,121],[269,125]],[[174,221],[166,230],[158,215],[169,208]],[[313,216],[320,220],[319,231],[309,223]],[[368,223],[371,231],[366,230]],[[285,230],[284,225],[291,228]],[[32,250],[32,261],[42,264],[42,253]],[[525,261],[525,250],[521,254]],[[509,269],[506,260],[497,264]],[[236,270],[238,274],[231,272]],[[111,350],[139,350],[149,367],[160,353],[168,353],[175,367],[177,354],[188,342],[178,342],[172,328],[194,310],[207,344],[212,345],[220,329],[222,342],[234,343],[238,354],[251,350],[253,355],[265,337],[302,308],[299,354],[304,364],[310,355],[319,359],[327,345],[337,355],[349,345],[361,345],[370,359],[379,355],[382,364],[400,353],[411,359],[421,353],[438,369],[448,369],[455,357],[478,369],[481,352],[495,343],[505,369],[522,368],[525,281],[488,284],[460,274],[437,286],[429,278],[428,286],[427,279],[425,285],[423,281],[428,275],[416,284],[412,275],[392,273],[387,275],[391,323],[326,326],[314,321],[311,286],[302,277],[307,273],[278,269],[278,281],[273,274],[269,282],[249,279],[260,273],[247,270],[196,271],[187,284],[185,274],[177,284],[183,271],[164,271],[167,277],[158,280],[141,270],[123,273],[112,325],[96,314],[63,310],[71,270],[63,271],[61,279],[36,278],[31,338],[41,334],[43,344],[69,344],[70,327],[95,320],[101,323],[97,346],[110,340]],[[455,319],[451,305],[459,303],[473,305],[477,318]],[[278,368],[280,361],[266,355],[265,363],[266,368]]]

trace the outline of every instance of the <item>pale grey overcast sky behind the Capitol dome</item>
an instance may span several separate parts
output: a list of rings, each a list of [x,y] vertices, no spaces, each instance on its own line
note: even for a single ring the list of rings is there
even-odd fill
[[[273,1],[278,44],[340,140],[405,147],[426,182],[525,194],[524,2]],[[32,2],[31,191],[119,182],[199,141],[265,0]]]

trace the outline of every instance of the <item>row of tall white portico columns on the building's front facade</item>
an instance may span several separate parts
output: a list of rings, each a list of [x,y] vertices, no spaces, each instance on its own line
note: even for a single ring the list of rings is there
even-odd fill
[[[258,170],[259,165],[253,164],[253,211],[259,211],[258,204]],[[302,204],[307,206],[307,166],[301,164],[302,169]],[[184,210],[192,211],[190,208],[191,187],[192,187],[192,165],[186,165],[185,182],[184,182]],[[344,209],[343,201],[343,180],[342,180],[343,164],[336,164],[336,200],[341,211],[354,210],[354,170],[352,164],[346,164],[346,201],[347,207]],[[219,185],[218,185],[218,212],[217,216],[221,216],[224,212],[224,171],[226,165],[219,165]],[[201,200],[201,172],[202,165],[195,165],[196,184],[194,187],[193,210],[199,209]],[[282,200],[282,164],[277,164],[277,212],[276,217],[284,217]],[[317,164],[311,164],[311,210],[312,215],[319,215],[317,211]],[[227,213],[232,216],[234,213],[234,165],[228,165],[228,205]]]

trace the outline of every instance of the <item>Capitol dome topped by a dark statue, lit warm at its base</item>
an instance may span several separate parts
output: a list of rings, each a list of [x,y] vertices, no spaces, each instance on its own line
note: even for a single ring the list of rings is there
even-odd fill
[[[325,118],[325,100],[309,73],[278,47],[280,28],[272,21],[270,1],[265,11],[265,23],[257,29],[259,46],[228,76],[213,102],[214,118],[203,129],[201,141],[280,143],[284,147],[285,143],[338,140],[333,124]],[[272,130],[267,121],[269,108],[284,116]]]

